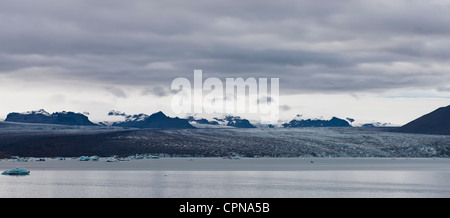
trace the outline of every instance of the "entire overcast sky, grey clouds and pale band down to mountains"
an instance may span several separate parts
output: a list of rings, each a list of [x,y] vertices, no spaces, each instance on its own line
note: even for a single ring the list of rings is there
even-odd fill
[[[286,119],[404,124],[450,104],[448,1],[2,0],[0,29],[3,118],[170,114],[194,69],[280,78]]]

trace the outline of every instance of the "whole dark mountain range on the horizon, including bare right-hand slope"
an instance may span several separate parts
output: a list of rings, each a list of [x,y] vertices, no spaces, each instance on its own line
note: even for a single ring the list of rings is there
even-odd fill
[[[210,121],[205,118],[195,118],[188,116],[187,118],[172,118],[166,116],[159,111],[152,115],[135,114],[127,115],[120,111],[110,111],[108,116],[123,117],[123,121],[118,122],[101,122],[95,124],[89,120],[85,114],[74,112],[56,112],[48,113],[41,109],[38,111],[28,111],[25,113],[10,113],[7,115],[6,122],[15,123],[40,123],[40,124],[58,124],[68,126],[115,126],[125,128],[139,128],[139,129],[193,129],[196,124],[206,126],[227,126],[234,128],[256,128],[249,120],[243,119],[239,116],[225,116],[224,118],[214,118]],[[297,115],[287,123],[281,126],[284,128],[298,128],[298,127],[352,127],[351,123],[355,120],[352,118],[340,119],[333,117],[330,120],[324,119],[301,119],[301,115]],[[364,124],[362,127],[386,127],[387,124],[374,123]],[[216,127],[216,128],[217,128]],[[258,126],[259,127],[259,126]],[[273,128],[274,126],[269,126]],[[421,134],[441,134],[450,135],[450,106],[439,108],[429,114],[426,114],[402,127],[395,129],[398,132],[404,133],[421,133]]]

